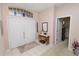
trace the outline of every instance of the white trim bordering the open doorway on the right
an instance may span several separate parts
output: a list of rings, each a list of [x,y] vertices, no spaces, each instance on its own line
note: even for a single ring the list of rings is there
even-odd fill
[[[57,20],[58,20],[58,18],[63,18],[63,17],[70,17],[70,29],[69,29],[69,41],[68,41],[68,48],[69,48],[69,45],[70,45],[70,33],[71,33],[71,19],[72,19],[72,16],[71,15],[66,15],[66,16],[57,16],[56,17],[56,20],[55,20],[55,45],[56,45],[56,38],[57,38],[57,34],[56,34],[56,32],[57,32]]]

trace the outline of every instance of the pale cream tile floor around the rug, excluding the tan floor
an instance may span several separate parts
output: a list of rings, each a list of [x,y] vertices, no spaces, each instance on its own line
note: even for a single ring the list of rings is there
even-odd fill
[[[38,43],[39,44],[39,43]],[[50,48],[50,45],[39,44],[34,48],[21,53],[18,48],[8,49],[5,52],[5,56],[39,56]],[[24,49],[23,49],[24,50]]]

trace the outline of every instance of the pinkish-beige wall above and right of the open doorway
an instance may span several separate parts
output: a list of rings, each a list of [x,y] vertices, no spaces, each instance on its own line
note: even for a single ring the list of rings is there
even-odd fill
[[[70,16],[69,49],[74,39],[79,41],[79,4],[67,4],[56,8],[56,17]]]

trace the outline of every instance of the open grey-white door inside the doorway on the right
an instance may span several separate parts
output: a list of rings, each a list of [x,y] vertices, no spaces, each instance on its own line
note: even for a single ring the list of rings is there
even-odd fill
[[[57,35],[56,35],[56,44],[62,41],[62,20],[57,19]]]

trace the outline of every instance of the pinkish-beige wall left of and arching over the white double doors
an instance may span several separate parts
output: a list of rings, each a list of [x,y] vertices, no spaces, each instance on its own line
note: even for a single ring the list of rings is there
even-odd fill
[[[3,21],[3,37],[2,37],[2,50],[0,49],[0,51],[3,53],[5,52],[5,50],[7,50],[9,48],[9,42],[8,42],[8,33],[7,33],[7,19],[8,19],[8,7],[16,7],[16,8],[22,8],[25,9],[24,7],[20,7],[19,5],[16,4],[0,4],[1,5],[1,9],[2,9],[2,21]],[[26,6],[25,6],[26,7]],[[29,9],[26,9],[29,10]],[[34,15],[34,19],[37,21],[37,15],[38,13],[32,10],[29,10],[33,13]],[[0,54],[2,54],[0,53]]]

